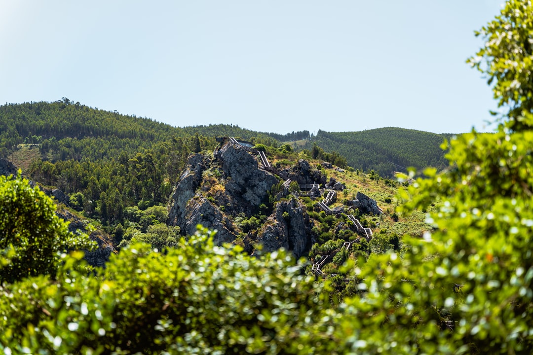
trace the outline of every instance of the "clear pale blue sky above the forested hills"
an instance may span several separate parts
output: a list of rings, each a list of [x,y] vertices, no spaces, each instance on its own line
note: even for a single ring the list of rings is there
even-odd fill
[[[502,3],[0,0],[0,103],[277,133],[490,130],[465,60]]]

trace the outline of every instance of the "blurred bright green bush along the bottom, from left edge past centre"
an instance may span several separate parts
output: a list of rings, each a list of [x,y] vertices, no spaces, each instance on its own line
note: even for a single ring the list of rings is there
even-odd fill
[[[201,230],[167,254],[134,244],[96,276],[72,271],[2,288],[0,343],[12,353],[334,353],[327,304],[285,252],[261,258]],[[75,269],[75,268],[74,268]],[[318,293],[317,293],[318,291]],[[326,320],[328,320],[326,318]],[[120,350],[120,351],[119,351]],[[5,350],[4,350],[5,351]]]

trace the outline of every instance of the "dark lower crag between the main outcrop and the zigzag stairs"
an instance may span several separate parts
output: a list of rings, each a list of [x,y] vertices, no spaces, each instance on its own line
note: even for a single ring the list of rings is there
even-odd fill
[[[292,251],[296,258],[308,252],[312,245],[311,224],[303,205],[296,199],[278,203],[258,233],[257,242],[263,245],[265,252],[283,247]]]

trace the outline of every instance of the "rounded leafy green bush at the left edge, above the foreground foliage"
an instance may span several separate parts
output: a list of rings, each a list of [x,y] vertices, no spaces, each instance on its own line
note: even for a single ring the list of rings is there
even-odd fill
[[[0,281],[55,275],[61,253],[95,247],[86,234],[68,231],[55,214],[55,204],[22,178],[0,176]]]

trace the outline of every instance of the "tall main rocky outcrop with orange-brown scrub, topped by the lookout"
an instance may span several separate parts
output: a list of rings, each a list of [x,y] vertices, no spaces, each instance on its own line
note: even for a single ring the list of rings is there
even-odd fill
[[[204,179],[204,172],[214,171],[220,176],[212,178],[214,181]],[[217,230],[216,244],[232,242],[238,232],[225,216],[252,216],[277,183],[278,179],[260,170],[254,156],[241,146],[227,143],[214,152],[213,158],[193,155],[174,189],[168,225],[179,226],[183,235],[191,235],[200,224]],[[204,194],[212,188],[209,184],[222,187],[207,199]]]

